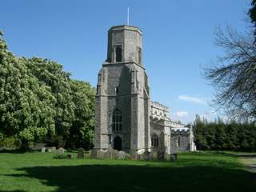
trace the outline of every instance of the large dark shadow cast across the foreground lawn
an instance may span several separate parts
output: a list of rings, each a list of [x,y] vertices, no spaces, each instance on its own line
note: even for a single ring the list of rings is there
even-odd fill
[[[255,175],[216,166],[35,166],[18,170],[58,191],[254,191]]]

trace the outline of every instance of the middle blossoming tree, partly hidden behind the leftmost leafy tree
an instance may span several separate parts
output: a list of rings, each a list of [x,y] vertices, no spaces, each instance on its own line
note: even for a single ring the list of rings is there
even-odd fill
[[[27,60],[30,71],[38,81],[50,86],[50,91],[56,98],[54,116],[56,134],[63,139],[69,137],[70,127],[74,121],[75,104],[72,101],[70,74],[62,69],[62,65],[43,58]]]

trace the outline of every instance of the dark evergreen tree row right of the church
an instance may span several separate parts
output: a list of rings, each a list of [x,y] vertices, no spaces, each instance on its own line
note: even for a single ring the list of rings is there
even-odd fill
[[[207,122],[196,115],[194,141],[198,150],[256,150],[256,127],[254,122],[224,123],[218,118]]]

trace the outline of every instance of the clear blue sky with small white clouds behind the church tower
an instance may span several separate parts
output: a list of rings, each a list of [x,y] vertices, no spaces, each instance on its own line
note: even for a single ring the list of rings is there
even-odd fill
[[[250,30],[250,0],[2,0],[0,29],[14,54],[50,58],[95,86],[107,30],[126,24],[128,6],[130,25],[143,32],[151,99],[169,106],[175,120],[214,119],[214,89],[202,78],[202,66],[222,54],[213,43],[217,26]]]

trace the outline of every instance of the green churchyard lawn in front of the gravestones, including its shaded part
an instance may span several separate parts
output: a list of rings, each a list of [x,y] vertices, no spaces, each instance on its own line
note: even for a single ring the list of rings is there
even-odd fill
[[[75,155],[74,155],[75,156]],[[0,154],[0,191],[255,191],[256,177],[234,155],[178,154],[178,162],[54,159]]]

